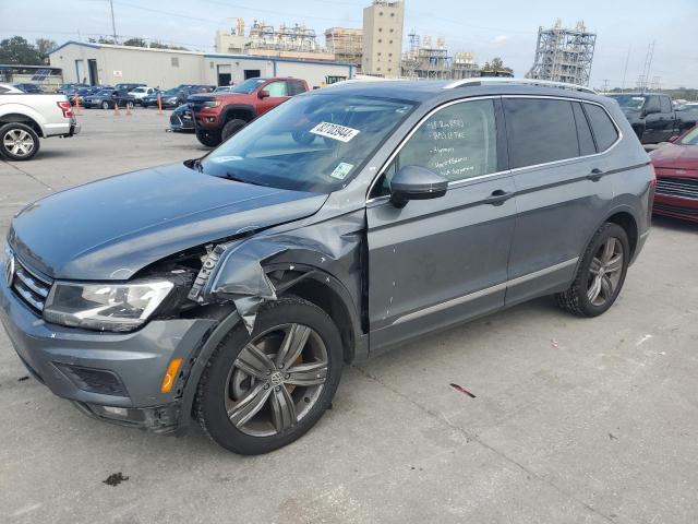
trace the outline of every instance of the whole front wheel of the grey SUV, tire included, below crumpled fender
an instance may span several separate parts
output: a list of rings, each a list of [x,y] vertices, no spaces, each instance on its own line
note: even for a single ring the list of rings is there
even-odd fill
[[[210,357],[194,414],[234,453],[256,455],[302,437],[329,407],[342,366],[332,319],[298,297],[268,302],[250,335],[241,323]]]

